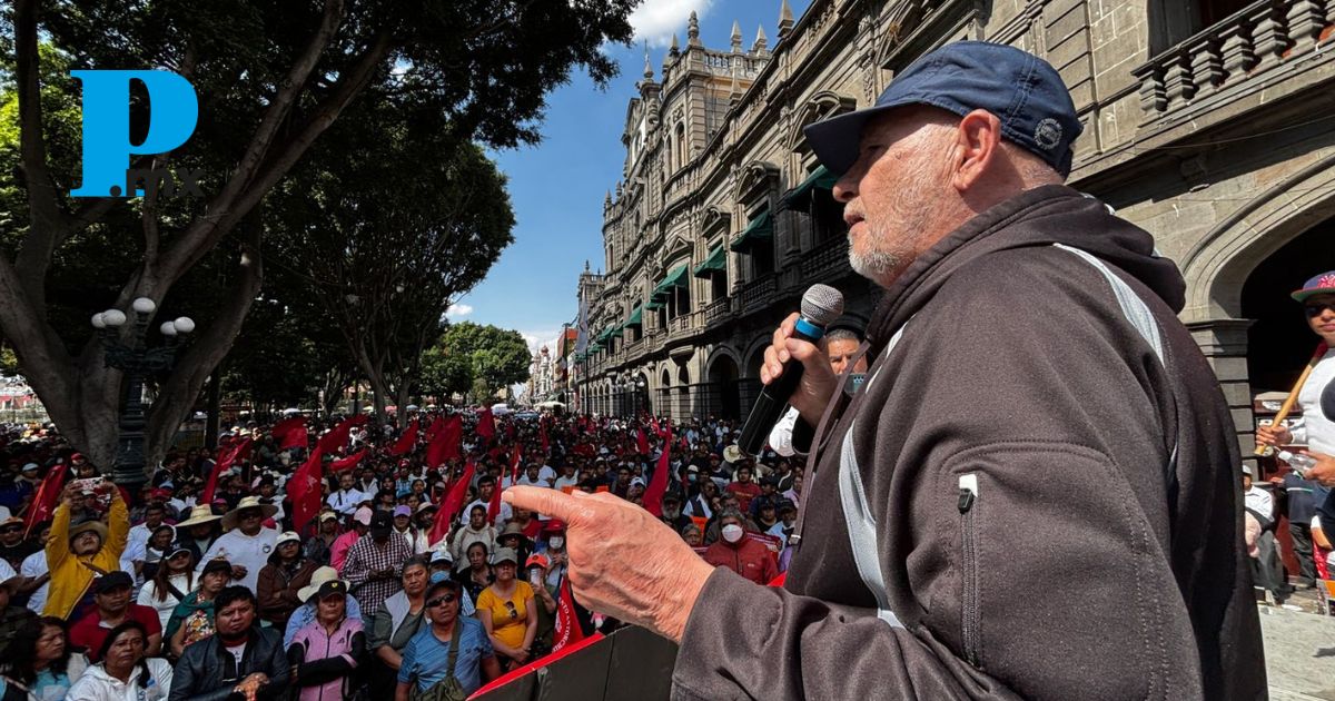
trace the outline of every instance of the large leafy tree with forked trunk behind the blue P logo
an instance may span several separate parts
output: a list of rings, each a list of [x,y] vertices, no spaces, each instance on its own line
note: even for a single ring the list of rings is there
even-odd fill
[[[461,143],[534,142],[546,92],[573,67],[599,83],[614,73],[598,47],[629,39],[634,4],[15,0],[0,9],[0,96],[12,118],[0,144],[0,198],[9,195],[0,215],[0,335],[61,431],[109,465],[124,378],[103,367],[88,315],[147,296],[159,320],[170,318],[198,299],[180,288],[207,268],[195,283],[212,286],[210,304],[148,417],[152,461],[258,296],[260,203],[362,93],[374,88],[449,124]],[[67,68],[167,68],[191,80],[200,96],[195,135],[134,166],[188,167],[204,175],[206,196],[71,199],[79,131],[68,105],[77,85]],[[146,96],[135,96],[131,132],[142,136],[148,118]],[[61,306],[63,271],[89,262],[100,295]]]

